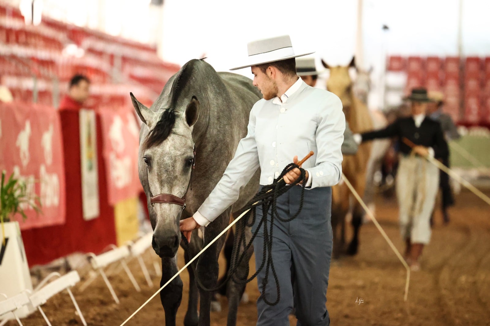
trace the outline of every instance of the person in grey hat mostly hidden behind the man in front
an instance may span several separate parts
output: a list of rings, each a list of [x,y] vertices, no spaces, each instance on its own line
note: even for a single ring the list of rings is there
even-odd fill
[[[318,71],[315,65],[315,58],[296,58],[296,74],[306,83],[306,85],[315,87],[317,85]],[[349,123],[345,121],[345,131],[343,133],[342,154],[354,155],[357,153],[358,145],[354,141]]]

